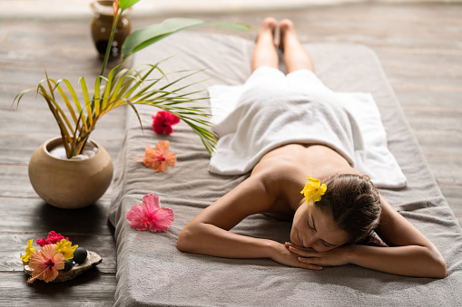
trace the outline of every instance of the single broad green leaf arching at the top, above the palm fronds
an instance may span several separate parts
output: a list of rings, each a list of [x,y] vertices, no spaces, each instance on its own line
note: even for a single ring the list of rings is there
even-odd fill
[[[164,20],[161,24],[152,24],[143,29],[134,31],[133,34],[130,34],[122,46],[123,61],[133,53],[139,52],[152,43],[162,40],[162,38],[185,29],[206,24],[217,25],[239,31],[247,31],[250,29],[250,26],[247,24],[207,22],[200,19],[190,18],[169,18]]]

